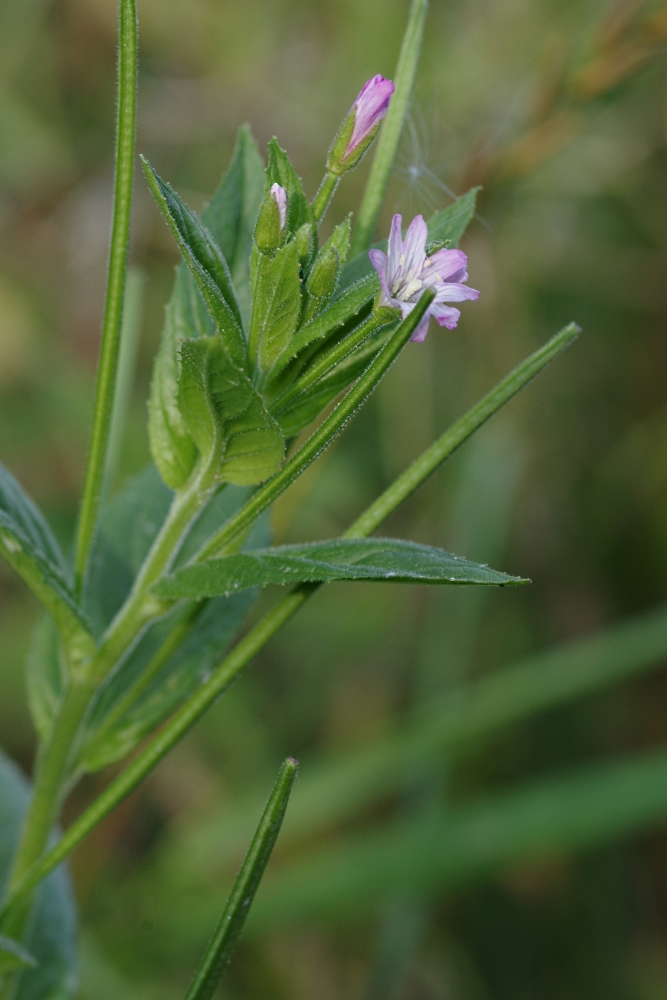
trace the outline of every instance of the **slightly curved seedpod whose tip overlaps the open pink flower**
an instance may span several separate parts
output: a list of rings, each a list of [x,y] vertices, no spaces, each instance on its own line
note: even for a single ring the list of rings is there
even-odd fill
[[[230,518],[220,531],[206,543],[197,553],[196,559],[198,561],[208,559],[211,556],[223,555],[228,546],[240,534],[246,531],[248,526],[259,517],[262,511],[266,510],[340,434],[355,410],[361,406],[394,363],[404,345],[412,336],[433,298],[433,291],[427,289],[410,315],[398,327],[389,343],[373,359],[363,375],[357,379],[347,395],[340,401],[336,409],[320,424],[296,455],[293,455],[285,463],[280,472],[273,479],[270,479],[268,483],[260,487],[245,507],[234,517]]]

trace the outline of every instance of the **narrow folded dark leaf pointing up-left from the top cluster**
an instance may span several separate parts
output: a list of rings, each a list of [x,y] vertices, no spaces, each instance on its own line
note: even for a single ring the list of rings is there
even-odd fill
[[[144,173],[158,208],[178,243],[232,361],[243,368],[246,346],[241,311],[222,251],[201,219],[142,158]]]

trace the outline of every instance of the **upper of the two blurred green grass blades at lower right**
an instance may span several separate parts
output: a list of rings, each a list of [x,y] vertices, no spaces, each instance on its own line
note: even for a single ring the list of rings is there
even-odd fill
[[[433,754],[461,754],[503,726],[641,676],[666,660],[667,609],[660,608],[461,685],[414,712],[393,733],[310,761],[293,796],[283,839],[307,839],[350,820],[399,791]],[[227,867],[243,850],[258,808],[258,796],[253,796],[233,812],[226,808],[176,836],[165,853],[171,876],[181,871],[189,881]]]

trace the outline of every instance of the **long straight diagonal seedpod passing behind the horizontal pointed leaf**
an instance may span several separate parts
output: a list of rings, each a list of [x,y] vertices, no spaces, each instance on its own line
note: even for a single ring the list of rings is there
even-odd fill
[[[574,324],[565,327],[544,347],[515,368],[495,389],[458,420],[421,455],[396,482],[348,528],[343,537],[365,538],[380,527],[383,520],[396,510],[415,489],[478,430],[490,416],[497,413],[516,393],[568,347],[578,336]],[[428,456],[428,458],[426,458]],[[399,485],[400,484],[400,485]],[[288,622],[309,597],[320,587],[318,583],[300,584],[287,594],[264,618],[244,636],[222,661],[209,680],[176,712],[153,741],[128,764],[63,834],[58,844],[44,854],[13,887],[0,911],[0,926],[13,908],[29,895],[49,872],[61,864],[102,820],[113,812],[147,777],[164,756],[182,739],[197,719],[209,708],[252,658]]]

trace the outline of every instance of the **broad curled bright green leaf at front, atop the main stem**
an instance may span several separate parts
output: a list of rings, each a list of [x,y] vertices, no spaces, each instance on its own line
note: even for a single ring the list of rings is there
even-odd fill
[[[183,341],[178,402],[201,455],[217,456],[221,482],[249,486],[278,471],[285,451],[280,428],[219,338]]]

